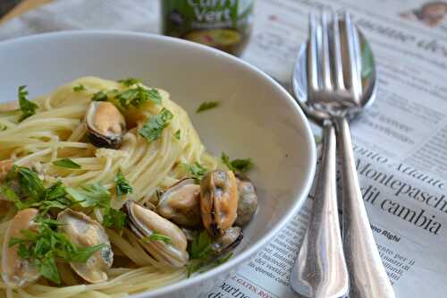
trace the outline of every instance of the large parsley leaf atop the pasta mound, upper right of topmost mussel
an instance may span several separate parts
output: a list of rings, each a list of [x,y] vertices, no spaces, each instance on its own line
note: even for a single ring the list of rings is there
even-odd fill
[[[142,86],[120,91],[115,95],[115,98],[118,99],[120,105],[124,108],[129,108],[130,106],[139,107],[148,100],[156,105],[162,103],[162,97],[157,89],[147,89]]]

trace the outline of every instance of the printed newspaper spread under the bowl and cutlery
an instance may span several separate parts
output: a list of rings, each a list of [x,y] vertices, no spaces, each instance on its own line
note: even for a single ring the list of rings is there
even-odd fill
[[[348,9],[375,54],[380,89],[351,129],[371,228],[395,293],[447,297],[447,4],[258,0],[255,30],[242,58],[288,88],[306,40],[308,13],[321,9]],[[0,27],[0,40],[51,30],[157,32],[158,12],[156,0],[58,1]],[[252,260],[201,297],[295,297],[289,277],[311,203],[312,198]]]

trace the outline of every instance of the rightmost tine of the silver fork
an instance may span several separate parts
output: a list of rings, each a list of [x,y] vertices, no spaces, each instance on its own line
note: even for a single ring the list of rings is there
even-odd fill
[[[358,48],[358,38],[357,38],[357,30],[352,25],[352,21],[350,20],[350,13],[346,12],[344,14],[345,25],[346,25],[346,41],[348,43],[348,68],[349,68],[349,80],[350,89],[352,95],[356,101],[360,100],[361,96],[361,77],[359,72],[359,48]]]

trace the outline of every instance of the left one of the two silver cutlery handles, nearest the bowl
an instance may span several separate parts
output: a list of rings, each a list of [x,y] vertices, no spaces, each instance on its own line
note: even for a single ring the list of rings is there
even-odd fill
[[[323,131],[321,165],[308,222],[308,232],[291,272],[293,289],[304,297],[338,298],[348,294],[335,184],[335,132]]]

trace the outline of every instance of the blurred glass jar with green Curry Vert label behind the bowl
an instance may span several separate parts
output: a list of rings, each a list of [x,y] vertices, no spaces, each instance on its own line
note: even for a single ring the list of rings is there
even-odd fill
[[[184,38],[233,55],[247,46],[254,0],[160,0],[164,35]]]

